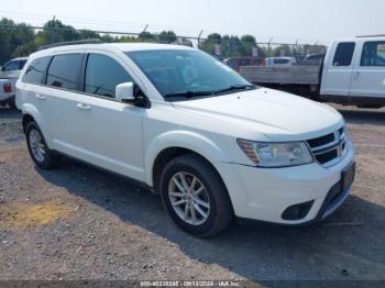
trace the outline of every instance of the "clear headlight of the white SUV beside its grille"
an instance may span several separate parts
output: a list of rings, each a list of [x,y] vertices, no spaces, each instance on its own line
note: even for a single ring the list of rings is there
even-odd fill
[[[314,162],[305,142],[262,143],[238,140],[238,145],[258,167],[287,167]]]

